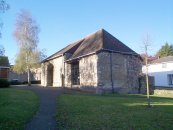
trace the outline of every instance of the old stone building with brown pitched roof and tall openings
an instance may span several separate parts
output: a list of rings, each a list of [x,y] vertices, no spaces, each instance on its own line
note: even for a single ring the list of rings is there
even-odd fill
[[[137,93],[141,67],[136,52],[101,29],[46,58],[41,84]]]

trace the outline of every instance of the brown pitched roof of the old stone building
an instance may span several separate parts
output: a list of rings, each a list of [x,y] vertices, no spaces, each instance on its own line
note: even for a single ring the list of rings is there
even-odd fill
[[[91,53],[97,53],[99,51],[112,51],[116,53],[138,55],[135,51],[127,47],[110,33],[101,29],[73,44],[68,45],[62,50],[46,58],[43,62],[54,59],[65,53],[70,53],[71,56],[68,57],[68,60],[73,60]]]

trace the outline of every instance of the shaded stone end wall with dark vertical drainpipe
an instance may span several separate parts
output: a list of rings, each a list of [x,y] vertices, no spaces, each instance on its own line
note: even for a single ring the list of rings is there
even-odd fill
[[[98,54],[98,89],[118,93],[137,93],[140,59],[119,53]]]

